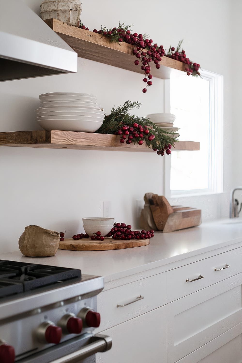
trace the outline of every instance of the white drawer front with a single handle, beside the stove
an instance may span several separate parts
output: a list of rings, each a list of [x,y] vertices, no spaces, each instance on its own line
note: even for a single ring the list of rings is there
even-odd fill
[[[140,296],[143,299],[139,299]],[[103,291],[97,298],[101,314],[101,325],[97,331],[102,331],[165,305],[166,272]]]

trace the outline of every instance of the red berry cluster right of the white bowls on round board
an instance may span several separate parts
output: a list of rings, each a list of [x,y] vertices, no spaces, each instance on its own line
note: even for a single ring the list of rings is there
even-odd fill
[[[107,234],[107,237],[112,237],[114,240],[139,240],[144,238],[154,237],[154,231],[131,231],[131,225],[125,223],[115,223],[111,232]]]

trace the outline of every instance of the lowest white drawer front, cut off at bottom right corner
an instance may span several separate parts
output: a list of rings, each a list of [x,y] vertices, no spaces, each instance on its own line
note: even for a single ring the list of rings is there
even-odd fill
[[[242,323],[176,363],[241,363]]]

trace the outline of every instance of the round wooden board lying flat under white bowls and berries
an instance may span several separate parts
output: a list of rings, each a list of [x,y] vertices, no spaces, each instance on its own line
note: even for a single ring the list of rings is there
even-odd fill
[[[82,238],[81,240],[66,238],[64,241],[60,241],[59,249],[66,249],[71,251],[105,251],[113,249],[141,247],[146,245],[149,245],[148,239],[118,241],[113,240],[111,237],[107,237],[104,241],[92,241],[90,238]]]

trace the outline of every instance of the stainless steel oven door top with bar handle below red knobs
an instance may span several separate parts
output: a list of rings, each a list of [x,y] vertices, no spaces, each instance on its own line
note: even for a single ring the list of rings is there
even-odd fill
[[[32,354],[16,363],[95,363],[95,354],[111,349],[112,339],[107,335],[84,334],[54,347]],[[17,357],[16,357],[17,358]]]

